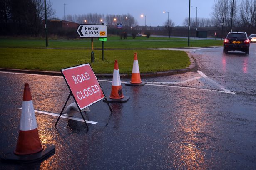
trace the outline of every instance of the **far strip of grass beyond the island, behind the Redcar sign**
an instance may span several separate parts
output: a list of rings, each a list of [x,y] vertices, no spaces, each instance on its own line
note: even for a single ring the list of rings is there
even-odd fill
[[[191,40],[190,47],[221,46],[221,40]],[[0,47],[20,48],[59,48],[59,49],[91,49],[91,40],[88,38],[78,40],[49,40],[45,47],[44,39],[10,39],[0,38]],[[161,37],[136,37],[132,39],[119,39],[117,36],[107,37],[104,42],[105,49],[147,49],[147,48],[172,48],[188,47],[187,40],[178,38]],[[94,48],[102,48],[102,42],[94,38]]]

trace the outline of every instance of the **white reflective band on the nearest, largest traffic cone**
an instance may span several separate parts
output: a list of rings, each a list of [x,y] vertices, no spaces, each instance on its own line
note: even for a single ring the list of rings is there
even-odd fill
[[[37,128],[37,120],[32,100],[22,102],[22,113],[20,116],[20,130],[29,131]]]

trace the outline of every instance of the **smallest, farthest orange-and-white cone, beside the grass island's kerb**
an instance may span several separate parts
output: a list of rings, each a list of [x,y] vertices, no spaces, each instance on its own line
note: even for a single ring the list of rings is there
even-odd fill
[[[140,73],[139,73],[139,63],[137,53],[134,53],[134,61],[132,67],[132,79],[130,82],[127,82],[125,85],[127,86],[144,86],[146,82],[141,81]]]

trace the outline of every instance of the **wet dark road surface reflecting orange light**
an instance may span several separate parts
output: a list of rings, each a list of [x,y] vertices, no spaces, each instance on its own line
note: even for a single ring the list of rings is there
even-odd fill
[[[122,83],[130,99],[110,103],[112,114],[103,101],[90,106],[85,118],[98,123],[88,131],[66,118],[55,128],[57,117],[35,113],[41,142],[55,153],[30,164],[0,162],[0,169],[256,169],[256,43],[249,56],[222,48],[191,53],[195,71],[143,79],[154,83],[141,87]],[[109,96],[112,79],[99,80]],[[26,82],[38,111],[59,114],[69,95],[61,77],[1,72],[1,152],[15,149]]]

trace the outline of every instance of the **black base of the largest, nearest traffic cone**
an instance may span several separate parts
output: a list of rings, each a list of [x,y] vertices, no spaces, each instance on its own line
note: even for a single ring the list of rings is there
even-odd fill
[[[43,144],[43,147],[42,151],[29,155],[16,155],[13,151],[10,151],[9,153],[2,153],[0,158],[4,161],[31,163],[41,160],[55,151],[55,145]]]

